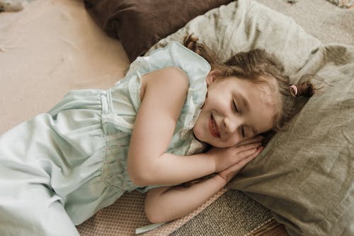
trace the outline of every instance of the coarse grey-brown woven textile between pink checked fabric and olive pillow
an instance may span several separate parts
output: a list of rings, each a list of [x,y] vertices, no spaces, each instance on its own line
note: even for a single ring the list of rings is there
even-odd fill
[[[219,217],[219,213],[223,217]],[[229,190],[171,236],[244,236],[271,218],[270,211],[249,196],[241,191]]]

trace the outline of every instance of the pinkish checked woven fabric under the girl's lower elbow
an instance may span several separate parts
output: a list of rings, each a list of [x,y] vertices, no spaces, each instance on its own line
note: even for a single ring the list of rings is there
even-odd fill
[[[222,189],[212,196],[208,201],[202,204],[198,209],[190,213],[188,216],[173,220],[165,225],[144,232],[142,236],[165,236],[181,227],[191,218],[197,216],[204,208],[210,206],[216,199],[224,194],[226,189]],[[148,225],[149,221],[144,213],[145,195],[138,191],[127,192],[123,194],[118,201],[112,206],[102,209],[95,216],[86,220],[77,228],[80,235],[96,236],[96,235],[115,235],[127,236],[135,235],[135,229]]]

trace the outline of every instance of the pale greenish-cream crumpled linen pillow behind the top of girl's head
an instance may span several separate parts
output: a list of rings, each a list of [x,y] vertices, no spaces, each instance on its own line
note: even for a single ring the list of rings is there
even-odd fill
[[[220,61],[227,61],[237,52],[266,49],[282,61],[290,75],[299,71],[312,50],[321,45],[292,18],[269,11],[254,1],[234,1],[198,16],[181,30],[160,40],[147,54],[171,41],[183,42],[185,35],[191,33],[199,36],[200,42],[210,47]]]

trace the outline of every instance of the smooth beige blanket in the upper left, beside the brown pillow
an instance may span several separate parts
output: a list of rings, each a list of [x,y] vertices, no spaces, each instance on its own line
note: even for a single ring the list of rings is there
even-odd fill
[[[109,88],[127,56],[81,1],[37,0],[0,13],[0,134],[55,105],[69,91]]]

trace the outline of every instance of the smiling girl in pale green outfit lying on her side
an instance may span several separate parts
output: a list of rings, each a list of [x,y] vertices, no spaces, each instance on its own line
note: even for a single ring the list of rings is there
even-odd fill
[[[113,88],[72,91],[0,137],[4,235],[79,235],[74,225],[133,189],[149,191],[150,221],[173,220],[262,151],[259,134],[282,126],[297,87],[261,50],[217,64],[193,37],[185,45],[139,57]]]

